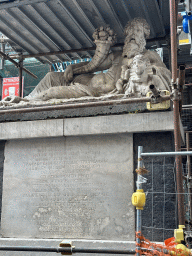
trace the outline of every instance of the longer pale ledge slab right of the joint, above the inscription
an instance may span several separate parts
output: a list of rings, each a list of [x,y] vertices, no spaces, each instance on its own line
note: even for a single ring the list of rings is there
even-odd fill
[[[64,122],[64,135],[173,131],[173,112],[138,113],[114,116],[70,118]]]

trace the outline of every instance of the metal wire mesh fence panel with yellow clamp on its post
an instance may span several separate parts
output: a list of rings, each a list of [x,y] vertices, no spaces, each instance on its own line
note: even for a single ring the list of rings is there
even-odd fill
[[[164,242],[166,239],[170,238],[171,236],[173,236],[173,231],[175,232],[178,224],[179,224],[179,221],[178,221],[178,212],[181,210],[184,211],[184,207],[187,208],[188,210],[186,211],[185,209],[185,213],[188,214],[189,216],[189,220],[190,219],[190,216],[191,216],[191,191],[188,190],[190,188],[190,186],[188,185],[187,186],[187,190],[185,190],[185,192],[183,193],[179,193],[178,192],[178,183],[176,181],[176,173],[175,173],[175,162],[173,164],[173,161],[171,163],[171,161],[169,160],[169,164],[166,163],[166,158],[167,157],[180,157],[180,156],[187,156],[187,157],[190,157],[192,155],[192,151],[186,151],[186,152],[181,152],[181,151],[178,151],[178,152],[150,152],[150,153],[143,153],[143,147],[142,146],[139,146],[138,147],[138,168],[137,168],[137,181],[136,181],[136,184],[137,184],[137,192],[139,193],[144,193],[143,192],[143,189],[142,189],[142,184],[146,184],[147,183],[147,178],[144,177],[145,176],[145,173],[148,172],[149,170],[146,170],[145,169],[145,165],[144,165],[144,160],[143,158],[145,159],[146,157],[163,157],[161,158],[161,160],[158,160],[158,161],[161,161],[161,169],[160,170],[160,165],[156,166],[156,175],[159,175],[158,176],[158,180],[159,180],[159,188],[154,186],[154,160],[153,158],[150,159],[151,161],[151,169],[149,171],[150,175],[148,174],[147,176],[150,176],[149,177],[149,186],[144,186],[145,189],[147,189],[146,191],[146,194],[147,194],[147,197],[148,198],[148,201],[150,201],[151,203],[151,225],[150,225],[150,217],[148,218],[148,225],[146,225],[146,223],[144,225],[142,225],[142,210],[143,210],[143,207],[145,206],[145,200],[143,200],[143,207],[138,207],[138,203],[136,204],[137,206],[137,217],[136,217],[136,233],[137,233],[137,240],[136,240],[136,244],[137,244],[137,247],[136,247],[136,251],[137,251],[137,255],[139,256],[142,252],[142,248],[141,248],[141,245],[142,245],[142,242],[141,242],[141,239],[140,237],[142,237],[142,234],[144,233],[145,235],[147,234],[147,232],[145,232],[145,229],[148,229],[150,230],[150,232],[148,232],[148,239],[150,239],[151,241],[161,241],[161,242]],[[170,177],[170,172],[166,172],[166,168],[167,168],[167,165],[168,165],[168,168],[172,169],[173,170],[173,177]],[[144,176],[143,176],[144,175]],[[169,175],[169,177],[167,177],[167,175]],[[168,183],[168,186],[167,186],[167,182],[166,182],[166,179],[169,180],[169,183]],[[170,186],[170,181],[174,181],[174,184],[172,185],[175,185],[175,191],[173,192],[172,189],[170,190],[170,187],[173,187],[173,186]],[[182,184],[183,186],[183,184]],[[136,193],[137,193],[136,192]],[[135,193],[135,194],[136,194]],[[134,195],[133,195],[134,196]],[[186,198],[185,200],[185,204],[183,205],[180,205],[180,201],[178,200],[178,197],[182,197],[182,200],[184,202],[184,196]],[[159,197],[159,199],[158,199]],[[141,194],[138,196],[138,201],[141,200]],[[156,200],[156,202],[155,202]],[[133,201],[133,198],[132,198],[132,201]],[[137,200],[136,200],[137,201]],[[142,201],[142,200],[141,200]],[[188,202],[190,202],[188,204]],[[171,207],[172,210],[169,209],[168,211],[168,214],[170,215],[171,213],[175,212],[174,215],[171,215],[169,218],[169,216],[167,215],[167,212],[166,212],[166,207],[169,206],[169,208]],[[183,206],[183,209],[179,209],[179,207]],[[158,215],[161,216],[161,223],[159,223],[159,217],[157,218],[156,216],[156,222],[154,221],[154,210],[155,209],[158,209]],[[161,208],[161,210],[160,210]],[[149,215],[149,202],[148,202],[148,205],[147,205],[147,212],[148,212],[148,215]],[[184,219],[186,218],[186,216],[184,216]],[[158,223],[157,223],[157,220],[158,220]],[[172,221],[171,221],[172,220]],[[190,232],[190,225],[189,225],[190,221],[188,222],[188,225],[187,225],[187,231],[185,232],[186,233],[186,237],[187,235],[189,235],[189,238],[191,237],[191,234],[189,234]],[[182,226],[182,225],[180,225]],[[184,226],[183,226],[184,227]],[[150,237],[149,237],[149,233],[150,233]],[[191,242],[191,241],[188,241],[188,242]],[[188,244],[189,248],[191,246],[191,244],[189,243]]]

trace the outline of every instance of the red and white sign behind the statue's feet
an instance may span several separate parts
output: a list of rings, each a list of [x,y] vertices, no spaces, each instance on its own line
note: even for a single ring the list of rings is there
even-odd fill
[[[22,77],[22,87],[23,81],[24,77]],[[2,99],[7,96],[19,96],[19,77],[3,78]]]

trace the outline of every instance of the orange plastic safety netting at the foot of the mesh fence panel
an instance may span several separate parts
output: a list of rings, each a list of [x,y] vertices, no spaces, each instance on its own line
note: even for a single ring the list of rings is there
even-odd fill
[[[140,243],[137,243],[137,239],[140,239]],[[186,252],[181,249],[176,249],[175,246],[178,243],[175,242],[175,238],[171,237],[164,241],[164,245],[150,242],[146,239],[141,232],[136,232],[136,253],[140,255],[179,255],[186,256]],[[137,249],[139,247],[140,249]]]

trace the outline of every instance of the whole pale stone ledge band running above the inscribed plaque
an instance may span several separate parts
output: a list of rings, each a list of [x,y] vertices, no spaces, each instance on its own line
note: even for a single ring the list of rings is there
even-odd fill
[[[173,131],[173,112],[0,123],[0,139]]]

